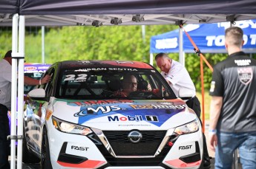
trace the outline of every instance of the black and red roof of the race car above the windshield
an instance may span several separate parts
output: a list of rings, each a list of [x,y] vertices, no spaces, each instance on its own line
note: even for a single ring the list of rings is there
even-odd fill
[[[59,62],[61,69],[76,69],[76,68],[134,68],[134,69],[154,69],[148,63],[141,62],[141,61],[62,61]]]

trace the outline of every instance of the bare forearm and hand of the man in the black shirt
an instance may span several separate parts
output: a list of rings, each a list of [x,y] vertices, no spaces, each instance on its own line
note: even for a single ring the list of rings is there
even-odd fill
[[[210,106],[210,126],[209,126],[209,139],[210,139],[210,148],[212,151],[215,151],[217,146],[217,136],[213,131],[216,130],[217,121],[220,117],[220,110],[223,106],[223,97],[213,96],[211,97],[211,106]]]

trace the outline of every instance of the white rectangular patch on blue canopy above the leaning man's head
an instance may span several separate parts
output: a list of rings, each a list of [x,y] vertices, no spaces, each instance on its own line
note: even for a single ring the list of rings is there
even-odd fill
[[[165,38],[156,40],[157,49],[177,48],[178,38]]]

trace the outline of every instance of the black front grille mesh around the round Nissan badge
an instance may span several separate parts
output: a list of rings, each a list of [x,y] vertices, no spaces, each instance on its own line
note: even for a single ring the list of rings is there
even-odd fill
[[[116,156],[154,156],[166,131],[140,131],[142,140],[128,140],[131,131],[103,131]]]

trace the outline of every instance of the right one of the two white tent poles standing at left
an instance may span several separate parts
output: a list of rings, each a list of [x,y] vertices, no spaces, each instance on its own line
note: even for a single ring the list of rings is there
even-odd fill
[[[23,136],[24,106],[24,33],[25,17],[19,16],[18,136]],[[22,139],[18,139],[17,168],[22,169]]]

